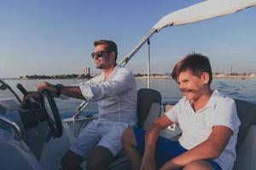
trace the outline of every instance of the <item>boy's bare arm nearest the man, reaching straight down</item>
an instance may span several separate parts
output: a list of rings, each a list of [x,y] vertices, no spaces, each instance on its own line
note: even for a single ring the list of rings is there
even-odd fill
[[[154,123],[150,125],[145,136],[145,151],[141,169],[155,169],[154,152],[156,140],[160,135],[160,131],[172,125],[172,121],[166,116],[160,116]]]

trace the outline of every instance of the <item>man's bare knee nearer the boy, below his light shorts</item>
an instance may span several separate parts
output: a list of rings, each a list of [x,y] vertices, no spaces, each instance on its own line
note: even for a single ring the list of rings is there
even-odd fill
[[[86,164],[86,170],[103,170],[107,169],[113,161],[113,154],[108,148],[96,146],[90,153]]]

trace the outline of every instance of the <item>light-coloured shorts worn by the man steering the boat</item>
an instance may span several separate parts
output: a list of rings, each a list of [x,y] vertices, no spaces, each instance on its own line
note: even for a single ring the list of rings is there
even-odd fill
[[[113,156],[117,156],[122,149],[121,137],[128,124],[125,122],[110,122],[107,120],[93,120],[82,132],[78,139],[71,145],[73,150],[84,160],[90,155],[90,151],[96,146],[103,146],[111,151]]]

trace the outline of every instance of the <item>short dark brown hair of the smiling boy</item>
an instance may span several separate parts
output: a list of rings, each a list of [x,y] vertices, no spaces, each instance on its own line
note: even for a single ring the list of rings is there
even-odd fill
[[[172,78],[177,82],[177,77],[180,72],[189,69],[195,76],[201,76],[203,72],[209,74],[210,85],[212,82],[212,67],[207,56],[202,54],[188,54],[182,60],[178,61],[172,70]]]

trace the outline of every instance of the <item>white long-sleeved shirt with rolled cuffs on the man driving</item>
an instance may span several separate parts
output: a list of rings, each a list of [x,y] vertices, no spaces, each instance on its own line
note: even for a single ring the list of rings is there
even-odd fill
[[[104,74],[79,85],[86,101],[97,101],[98,114],[113,122],[137,123],[137,84],[131,71],[116,65],[108,79]]]

